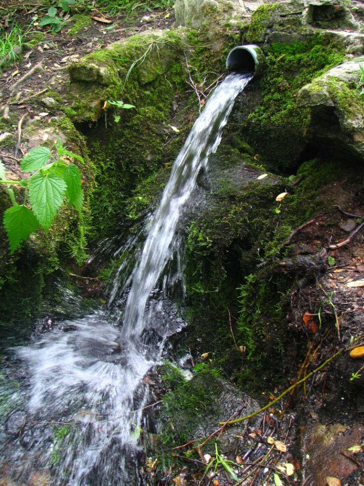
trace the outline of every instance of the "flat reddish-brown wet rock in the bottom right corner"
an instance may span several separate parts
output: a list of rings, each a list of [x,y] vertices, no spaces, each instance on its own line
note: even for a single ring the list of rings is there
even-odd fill
[[[303,478],[312,475],[311,484],[326,486],[326,477],[333,476],[342,481],[353,474],[358,466],[341,454],[349,447],[361,444],[364,426],[354,424],[351,430],[342,424],[303,426],[302,457]]]

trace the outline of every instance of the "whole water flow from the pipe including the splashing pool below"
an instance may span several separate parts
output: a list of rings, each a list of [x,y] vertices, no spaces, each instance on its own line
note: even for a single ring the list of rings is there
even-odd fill
[[[182,327],[173,306],[163,310],[166,297],[155,287],[178,246],[176,225],[198,173],[217,150],[234,99],[251,78],[242,74],[225,78],[177,157],[148,223],[121,335],[112,313],[102,309],[64,321],[15,351],[23,363],[24,387],[11,395],[18,409],[8,418],[5,446],[0,449],[2,474],[5,471],[11,478],[11,485],[32,484],[34,475],[57,486],[141,482],[138,440],[149,400],[143,377],[160,361],[168,336]],[[111,301],[119,289],[115,281]],[[150,300],[153,292],[160,297]],[[9,440],[16,419],[23,419],[24,425],[21,434],[17,431],[17,437]],[[54,440],[55,425],[58,430],[67,428],[62,440]],[[47,476],[50,468],[52,478]]]

